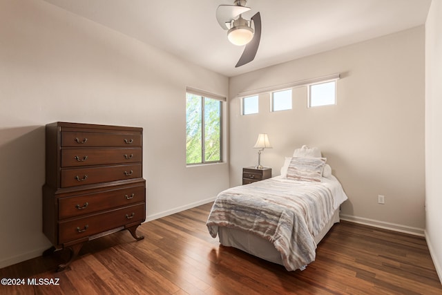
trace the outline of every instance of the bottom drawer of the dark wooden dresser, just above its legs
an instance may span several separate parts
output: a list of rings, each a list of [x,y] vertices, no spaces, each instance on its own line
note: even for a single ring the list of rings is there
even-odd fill
[[[128,224],[128,222],[141,223],[145,219],[146,204],[143,203],[59,222],[59,244],[115,229]]]

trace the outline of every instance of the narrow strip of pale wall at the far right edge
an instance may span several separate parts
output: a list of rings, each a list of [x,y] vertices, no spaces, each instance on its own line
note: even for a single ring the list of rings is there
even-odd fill
[[[442,281],[442,3],[432,1],[425,24],[425,236]]]

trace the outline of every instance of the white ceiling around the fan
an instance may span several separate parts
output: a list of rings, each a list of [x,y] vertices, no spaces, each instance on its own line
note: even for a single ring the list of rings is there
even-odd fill
[[[46,0],[228,77],[425,23],[431,0],[249,0],[260,12],[255,60],[235,68],[243,47],[215,18],[233,0]]]

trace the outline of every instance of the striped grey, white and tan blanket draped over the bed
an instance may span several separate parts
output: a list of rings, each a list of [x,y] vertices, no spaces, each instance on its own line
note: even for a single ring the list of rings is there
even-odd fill
[[[315,260],[314,236],[334,213],[330,189],[322,183],[274,178],[222,191],[207,220],[213,238],[232,227],[273,243],[289,271]]]

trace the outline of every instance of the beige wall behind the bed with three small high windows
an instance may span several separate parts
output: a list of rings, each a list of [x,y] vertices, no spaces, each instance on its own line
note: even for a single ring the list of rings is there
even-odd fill
[[[268,133],[273,149],[261,161],[279,175],[284,158],[302,144],[318,146],[349,200],[343,218],[423,234],[424,38],[423,26],[232,77],[230,184],[257,162],[251,147]],[[293,110],[240,115],[237,93],[340,73],[336,106],[307,108],[307,88],[296,88]],[[378,195],[385,204],[378,204]]]

